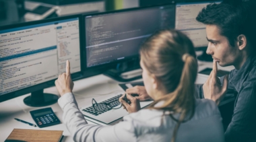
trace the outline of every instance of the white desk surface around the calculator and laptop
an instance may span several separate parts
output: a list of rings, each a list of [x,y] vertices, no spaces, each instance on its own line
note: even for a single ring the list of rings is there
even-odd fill
[[[210,67],[212,68],[212,63],[205,63],[205,62],[199,62],[199,71]],[[218,69],[230,71],[231,69],[234,69],[234,67],[219,67]],[[207,79],[205,76],[198,76],[196,83],[204,83],[204,81]],[[137,81],[141,81],[142,79],[139,79]],[[113,79],[110,79],[109,77],[106,77],[104,75],[96,75],[94,77],[88,77],[86,79],[81,79],[74,82],[74,88],[73,93],[75,94],[75,98],[77,100],[77,104],[79,107],[86,106],[88,104],[91,104],[92,98],[96,98],[97,100],[104,100],[108,96],[115,95],[115,92],[123,92],[121,87],[119,87],[117,81],[114,81]],[[56,87],[50,87],[44,90],[46,93],[56,94],[59,96],[59,93],[56,90]],[[17,120],[14,120],[14,118],[20,118],[22,120],[26,120],[28,122],[32,122],[35,124],[34,120],[32,119],[32,116],[30,116],[31,110],[36,110],[40,108],[46,108],[45,107],[30,107],[26,106],[23,102],[24,98],[26,96],[29,96],[30,94],[20,96],[18,98],[13,98],[11,100],[7,100],[5,102],[0,103],[0,141],[5,141],[5,139],[9,136],[11,131],[13,129],[40,129],[38,127],[31,127],[29,125],[26,125],[22,122],[18,122]],[[64,131],[63,135],[65,136],[63,139],[64,141],[73,141],[71,134],[67,130],[67,127],[62,123],[62,114],[63,111],[59,107],[59,104],[53,104],[50,106],[53,108],[53,111],[57,115],[57,117],[61,120],[61,124],[54,125],[51,127],[45,127],[41,128],[41,130],[61,130]],[[92,124],[92,122],[89,122],[89,124]]]

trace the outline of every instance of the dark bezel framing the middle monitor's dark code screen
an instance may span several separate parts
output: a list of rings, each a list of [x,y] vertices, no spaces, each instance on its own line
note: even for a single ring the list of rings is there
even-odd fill
[[[98,69],[101,70],[106,70],[106,69],[110,69],[111,67],[115,67],[115,65],[117,65],[118,63],[124,63],[127,61],[139,61],[139,52],[137,55],[133,55],[131,57],[126,57],[125,59],[121,59],[121,60],[117,60],[117,61],[111,61],[110,63],[104,63],[102,65],[96,65],[96,66],[92,66],[92,67],[87,67],[87,50],[86,50],[86,17],[88,16],[95,16],[95,15],[106,15],[106,14],[110,14],[110,13],[123,13],[123,12],[128,12],[128,11],[136,11],[136,10],[143,10],[143,9],[150,9],[150,8],[157,8],[157,7],[164,7],[164,6],[172,6],[174,7],[174,9],[176,8],[175,3],[168,3],[168,4],[164,4],[164,5],[153,5],[153,6],[147,6],[147,7],[135,7],[135,8],[129,8],[129,9],[120,9],[120,10],[113,10],[113,11],[106,11],[106,12],[101,12],[101,13],[92,13],[92,14],[83,14],[82,15],[82,21],[84,22],[84,26],[83,26],[83,39],[84,39],[84,69],[85,71],[95,71]],[[174,13],[172,13],[174,18],[175,18],[175,10]],[[174,20],[175,21],[175,20]],[[103,73],[104,71],[101,71],[101,73]]]

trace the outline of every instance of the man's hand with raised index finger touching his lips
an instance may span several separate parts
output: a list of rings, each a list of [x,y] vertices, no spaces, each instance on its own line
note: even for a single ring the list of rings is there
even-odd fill
[[[223,85],[220,83],[220,79],[217,77],[217,62],[214,60],[212,72],[207,81],[203,84],[203,95],[205,99],[210,99],[220,104],[220,101],[224,98],[228,88],[228,75],[224,77]]]

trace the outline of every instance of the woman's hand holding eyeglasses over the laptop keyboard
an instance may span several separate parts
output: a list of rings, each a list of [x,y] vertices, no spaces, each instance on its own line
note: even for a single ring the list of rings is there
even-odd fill
[[[123,94],[123,96],[119,98],[119,102],[122,103],[122,105],[125,107],[125,110],[127,110],[129,114],[132,112],[137,112],[141,109],[138,98],[135,98],[130,94],[126,94],[127,99],[131,102],[131,104],[128,104],[127,102],[125,102],[125,100],[123,100],[124,97],[125,97],[125,94]]]

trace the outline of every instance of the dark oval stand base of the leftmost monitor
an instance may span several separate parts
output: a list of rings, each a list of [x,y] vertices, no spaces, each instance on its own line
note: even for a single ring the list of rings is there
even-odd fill
[[[30,96],[24,98],[24,103],[28,106],[40,107],[55,104],[59,97],[54,94],[44,94],[44,90],[32,92]]]

